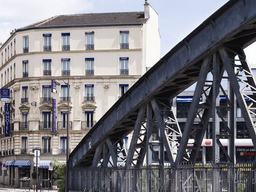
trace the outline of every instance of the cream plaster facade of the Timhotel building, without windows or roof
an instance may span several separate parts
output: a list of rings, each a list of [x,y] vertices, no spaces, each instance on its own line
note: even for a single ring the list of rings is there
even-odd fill
[[[33,171],[34,153],[32,149],[44,150],[44,140],[50,142],[49,151],[41,154],[42,160],[66,160],[62,150],[66,129],[59,127],[57,122],[63,120],[67,111],[67,102],[60,100],[62,87],[57,86],[57,93],[50,93],[50,100],[43,100],[43,86],[50,86],[52,79],[62,78],[68,81],[68,76],[62,76],[62,59],[70,59],[70,118],[72,126],[69,131],[69,146],[72,151],[91,127],[86,128],[85,112],[92,112],[94,123],[118,100],[120,85],[130,88],[148,68],[160,59],[160,35],[158,31],[158,14],[148,4],[145,5],[145,16],[148,20],[136,24],[112,24],[94,26],[46,26],[24,27],[15,30],[10,38],[0,47],[0,86],[10,89],[10,116],[12,130],[10,136],[4,136],[4,102],[0,103],[1,134],[0,161],[18,162],[26,160],[27,168]],[[129,34],[128,49],[120,49],[120,32]],[[86,50],[86,32],[94,32],[94,49]],[[69,33],[70,50],[62,51],[62,34]],[[44,34],[51,34],[51,51],[44,51]],[[24,51],[25,38],[28,38],[28,51]],[[120,75],[120,58],[128,58],[128,74]],[[86,75],[85,58],[94,58],[94,75]],[[51,60],[51,75],[44,75],[43,60]],[[24,76],[24,63],[28,70]],[[61,85],[64,83],[61,82]],[[85,85],[93,85],[93,101],[85,101]],[[28,93],[24,99],[24,89]],[[56,99],[56,136],[52,135],[50,127],[44,129],[43,115],[51,112],[52,98]],[[36,102],[36,106],[31,103]],[[26,118],[24,120],[24,118]],[[52,121],[52,114],[50,120]],[[28,127],[21,126],[28,122]],[[41,123],[42,124],[42,123]],[[27,144],[24,145],[24,140]],[[24,148],[26,146],[26,148]],[[31,163],[28,166],[28,163]],[[12,163],[13,163],[12,162]],[[18,166],[18,167],[17,167]],[[20,168],[19,168],[20,167]],[[26,178],[20,177],[22,165],[8,165],[5,171],[5,184],[24,187]],[[44,180],[45,168],[40,168],[42,187],[47,188]],[[48,170],[48,169],[47,169]],[[47,171],[46,171],[47,172]],[[0,170],[0,182],[3,182],[4,172]],[[49,174],[49,173],[48,173]],[[50,174],[49,174],[50,176]],[[15,183],[14,183],[15,178]],[[32,182],[30,184],[32,186]]]

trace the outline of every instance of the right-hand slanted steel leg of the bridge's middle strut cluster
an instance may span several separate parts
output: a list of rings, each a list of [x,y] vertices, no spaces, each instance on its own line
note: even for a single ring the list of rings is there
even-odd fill
[[[156,104],[156,100],[155,99],[151,100],[151,105],[152,105],[152,109],[154,111],[154,114],[156,116],[156,121],[157,121],[159,130],[160,130],[162,141],[163,141],[164,146],[166,148],[166,152],[167,152],[167,156],[168,156],[169,162],[170,163],[174,163],[174,160],[172,158],[171,145],[170,145],[170,142],[168,140],[168,136],[167,136],[167,133],[166,133],[166,130],[165,130],[165,127],[164,127],[164,122],[163,122],[163,119],[161,118],[161,114],[159,112],[159,109],[158,109],[158,106]]]

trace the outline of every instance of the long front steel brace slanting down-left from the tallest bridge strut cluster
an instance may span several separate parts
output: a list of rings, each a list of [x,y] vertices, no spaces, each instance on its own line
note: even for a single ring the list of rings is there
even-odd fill
[[[202,96],[202,91],[204,89],[206,77],[209,72],[211,60],[212,59],[210,57],[208,57],[208,58],[204,59],[204,61],[203,61],[202,68],[200,70],[200,74],[198,77],[198,82],[196,84],[196,90],[194,92],[193,100],[192,100],[192,103],[190,105],[190,109],[188,112],[188,118],[187,118],[186,124],[184,126],[184,132],[182,134],[182,138],[180,141],[180,148],[178,150],[175,164],[181,163],[184,158],[184,155],[186,154],[186,146],[187,146],[188,140],[190,138],[190,133],[191,133],[191,130],[193,127],[194,119],[196,117],[196,113],[198,110],[200,98]]]

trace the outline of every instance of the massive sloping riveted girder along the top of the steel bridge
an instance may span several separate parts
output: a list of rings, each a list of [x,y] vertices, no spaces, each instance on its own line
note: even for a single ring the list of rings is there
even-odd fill
[[[205,58],[211,58],[212,54],[218,52],[224,44],[228,44],[229,46],[240,46],[240,48],[243,49],[255,42],[255,23],[256,1],[230,0],[222,6],[222,8],[212,14],[212,16],[159,60],[110,108],[110,110],[108,110],[108,112],[106,112],[106,114],[104,114],[90,132],[82,139],[79,145],[72,151],[69,157],[70,160],[68,166],[70,168],[79,165],[92,166],[92,163],[95,160],[94,154],[96,150],[98,150],[97,147],[107,142],[109,148],[111,148],[111,143],[112,145],[116,144],[117,140],[130,134],[134,130],[140,108],[147,106],[149,103],[150,105],[154,105],[153,108],[156,114],[153,114],[153,116],[155,116],[155,120],[157,120],[157,123],[160,125],[161,132],[164,132],[164,126],[161,126],[161,123],[158,122],[162,116],[160,112],[157,112],[159,108],[156,105],[156,102],[154,102],[154,99],[174,98],[198,81]],[[249,97],[249,95],[245,94],[247,89],[242,89],[239,96],[238,89],[236,87],[234,88],[234,86],[238,86],[239,83],[237,82],[237,77],[234,77],[234,70],[232,71],[232,67],[227,64],[230,62],[230,58],[233,57],[229,57],[223,49],[224,48],[220,49],[221,58],[225,68],[229,71],[228,77],[230,78],[230,84],[234,89],[234,93],[236,94],[240,105],[244,102],[243,98],[246,96]],[[238,53],[238,51],[234,52]],[[244,61],[243,63],[246,62]],[[210,68],[212,68],[212,65]],[[254,87],[250,82],[251,80],[252,79],[250,78],[246,81],[240,79],[240,82],[247,83],[246,87]],[[252,98],[252,100],[254,100],[254,98]],[[250,108],[250,115],[248,114],[245,117],[245,121],[246,125],[248,124],[248,126],[250,126],[250,128],[247,127],[255,145],[256,136],[254,124],[250,117],[254,113],[254,106],[249,105],[247,107]],[[196,107],[194,109],[196,109]],[[248,112],[247,110],[248,109],[246,109],[244,104],[242,112]],[[146,118],[147,114],[145,114],[144,120],[146,120]],[[192,120],[190,120],[190,123],[192,123]],[[167,132],[164,134],[168,135]],[[188,134],[190,133],[186,133],[185,137],[188,137]],[[160,134],[160,136],[162,135],[163,134]],[[168,136],[165,137],[166,140],[168,140]],[[194,136],[194,138],[196,138],[196,136]],[[200,138],[202,138],[202,135]],[[163,142],[165,143],[165,146],[168,146],[166,140],[163,140]],[[184,139],[184,141],[186,140],[187,139]],[[150,142],[147,140],[144,142],[148,143],[150,146]],[[182,140],[180,146],[183,145],[186,145],[186,142],[183,142]],[[119,146],[120,144],[117,144],[113,147],[111,151],[111,156],[113,156],[113,158],[115,154],[118,154],[115,150]],[[100,154],[97,158],[106,158],[106,154],[109,154],[104,148],[106,148],[106,145],[103,147],[102,153],[99,153],[99,151],[97,152],[97,154]],[[186,147],[183,146],[183,148]],[[196,150],[198,150],[197,147]],[[172,150],[170,151],[168,152],[168,158],[173,159],[171,158]],[[179,160],[182,161],[182,155],[178,154],[178,156]],[[115,161],[117,162],[118,160]]]

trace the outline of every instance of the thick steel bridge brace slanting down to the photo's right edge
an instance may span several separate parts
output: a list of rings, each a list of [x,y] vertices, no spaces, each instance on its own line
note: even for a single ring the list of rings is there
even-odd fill
[[[231,86],[234,90],[234,93],[236,95],[237,102],[238,102],[238,104],[240,106],[240,109],[241,109],[241,112],[244,116],[246,126],[248,128],[248,131],[250,132],[250,136],[252,138],[252,143],[256,147],[256,129],[255,129],[255,125],[254,125],[254,122],[252,120],[252,116],[250,115],[250,111],[247,107],[246,101],[244,99],[244,95],[242,93],[242,90],[240,90],[240,85],[239,85],[239,82],[237,80],[236,74],[234,73],[234,68],[232,66],[232,62],[230,61],[230,59],[228,57],[228,53],[227,53],[226,48],[224,48],[224,47],[220,48],[219,52],[220,52],[220,56],[221,56],[222,62],[224,64],[224,67],[226,68],[226,72],[228,74],[228,77],[230,79],[230,84],[231,84]],[[249,66],[248,66],[248,68],[249,68]]]

